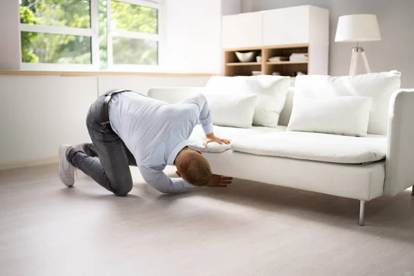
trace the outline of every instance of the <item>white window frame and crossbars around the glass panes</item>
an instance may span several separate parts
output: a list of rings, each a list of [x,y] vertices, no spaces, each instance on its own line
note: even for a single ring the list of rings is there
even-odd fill
[[[108,51],[108,68],[105,70],[100,69],[100,57],[99,57],[99,10],[98,0],[90,1],[90,28],[72,28],[63,26],[47,26],[47,25],[30,25],[27,23],[20,23],[19,17],[19,58],[20,58],[20,70],[52,70],[52,71],[128,71],[128,72],[157,72],[161,68],[162,54],[164,52],[164,17],[161,0],[117,0],[125,3],[131,3],[133,5],[146,6],[150,8],[156,8],[158,10],[158,34],[148,34],[143,32],[133,32],[126,30],[112,30],[110,26],[110,3],[111,0],[107,0],[106,3],[106,32],[107,32],[107,51]],[[21,59],[21,32],[44,32],[50,34],[69,34],[77,36],[85,36],[91,38],[91,64],[61,64],[61,63],[28,63],[23,62]],[[126,37],[126,38],[138,38],[138,39],[153,39],[158,41],[158,65],[134,65],[134,64],[113,64],[112,55],[112,37]]]

